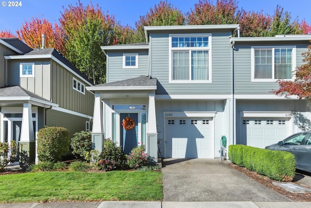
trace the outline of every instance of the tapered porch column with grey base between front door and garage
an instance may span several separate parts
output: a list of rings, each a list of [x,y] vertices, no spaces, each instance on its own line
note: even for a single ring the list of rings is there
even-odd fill
[[[155,117],[155,94],[149,94],[149,108],[148,108],[148,127],[146,139],[146,151],[149,156],[157,160],[157,131],[156,131],[156,117]]]

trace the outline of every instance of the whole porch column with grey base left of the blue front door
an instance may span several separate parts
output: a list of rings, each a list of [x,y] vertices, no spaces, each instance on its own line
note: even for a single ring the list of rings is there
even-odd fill
[[[101,95],[95,94],[94,114],[93,114],[93,129],[92,129],[92,143],[93,150],[102,151],[104,145],[104,131],[103,131],[103,107]]]

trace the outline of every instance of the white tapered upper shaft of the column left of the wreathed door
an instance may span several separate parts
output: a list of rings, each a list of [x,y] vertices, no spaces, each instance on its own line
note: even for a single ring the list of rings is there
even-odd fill
[[[103,108],[101,95],[98,93],[95,94],[92,132],[103,132]]]

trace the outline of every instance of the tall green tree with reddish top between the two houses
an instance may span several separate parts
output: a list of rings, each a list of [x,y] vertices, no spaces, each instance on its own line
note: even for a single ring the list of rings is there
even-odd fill
[[[94,84],[104,83],[106,56],[101,46],[114,43],[114,29],[118,26],[114,16],[105,15],[98,4],[84,7],[79,1],[76,6],[64,8],[59,22],[65,38],[65,57]]]

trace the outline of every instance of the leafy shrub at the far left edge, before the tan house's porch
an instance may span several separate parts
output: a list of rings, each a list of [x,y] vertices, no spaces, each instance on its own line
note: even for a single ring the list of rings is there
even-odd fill
[[[9,157],[8,157],[9,154]],[[14,162],[17,154],[17,144],[15,141],[0,142],[0,170],[3,170],[10,162]]]

